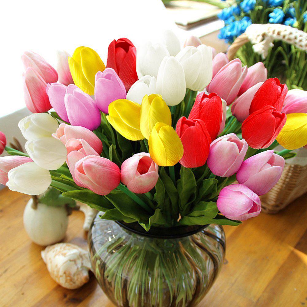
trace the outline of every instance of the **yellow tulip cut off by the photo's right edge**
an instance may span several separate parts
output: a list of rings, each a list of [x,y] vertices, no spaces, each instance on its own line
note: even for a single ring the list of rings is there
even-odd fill
[[[287,114],[287,121],[276,138],[286,149],[297,149],[307,144],[307,114]]]

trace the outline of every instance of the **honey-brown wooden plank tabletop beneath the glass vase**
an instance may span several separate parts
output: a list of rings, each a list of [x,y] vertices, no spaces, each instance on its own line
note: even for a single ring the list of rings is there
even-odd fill
[[[0,191],[0,306],[113,307],[95,277],[77,290],[58,286],[22,223],[29,196]],[[65,241],[86,247],[83,213],[69,217]],[[224,227],[225,264],[198,307],[307,306],[307,197],[276,215]]]

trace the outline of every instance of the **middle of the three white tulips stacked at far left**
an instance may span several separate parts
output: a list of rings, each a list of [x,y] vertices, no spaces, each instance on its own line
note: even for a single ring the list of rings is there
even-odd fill
[[[25,149],[30,158],[43,169],[58,169],[67,156],[65,145],[53,137],[29,140],[25,143]]]

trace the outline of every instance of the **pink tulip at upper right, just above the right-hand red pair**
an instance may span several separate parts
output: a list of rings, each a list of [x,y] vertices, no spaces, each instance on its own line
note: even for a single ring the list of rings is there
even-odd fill
[[[241,85],[239,90],[239,96],[245,93],[249,88],[258,84],[259,82],[264,82],[267,79],[268,71],[264,67],[262,62],[258,62],[247,69],[247,75]]]

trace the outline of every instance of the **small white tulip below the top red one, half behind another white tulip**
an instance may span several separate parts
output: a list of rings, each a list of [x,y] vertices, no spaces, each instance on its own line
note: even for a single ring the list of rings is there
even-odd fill
[[[127,93],[127,99],[141,104],[145,95],[156,93],[156,83],[155,77],[148,75],[142,77],[130,87]]]

